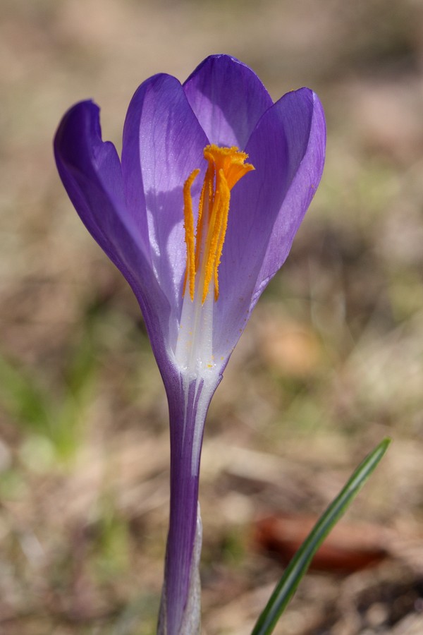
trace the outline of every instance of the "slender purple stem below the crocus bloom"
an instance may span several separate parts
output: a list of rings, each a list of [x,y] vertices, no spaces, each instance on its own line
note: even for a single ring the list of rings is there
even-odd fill
[[[179,390],[174,388],[167,391],[171,431],[171,509],[159,635],[200,632],[198,481],[204,421],[212,394],[206,398],[204,408],[203,382],[193,381],[184,390],[181,378]],[[199,401],[203,401],[200,409]],[[200,444],[198,452],[195,438]]]

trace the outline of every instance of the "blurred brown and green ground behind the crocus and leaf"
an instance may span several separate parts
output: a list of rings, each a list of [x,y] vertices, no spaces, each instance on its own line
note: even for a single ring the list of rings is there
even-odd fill
[[[51,140],[92,97],[120,149],[137,85],[185,80],[217,52],[274,99],[316,90],[328,151],[209,412],[203,632],[250,632],[309,518],[385,435],[388,455],[276,632],[423,632],[422,3],[1,0],[1,634],[155,631],[164,389]]]

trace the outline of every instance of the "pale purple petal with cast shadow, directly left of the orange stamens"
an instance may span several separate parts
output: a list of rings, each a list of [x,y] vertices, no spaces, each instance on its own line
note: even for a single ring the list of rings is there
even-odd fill
[[[186,262],[183,184],[192,170],[204,166],[207,143],[176,78],[155,75],[140,85],[123,130],[123,180],[132,214],[147,214],[144,239],[175,326]],[[194,209],[200,189],[199,176],[192,188]]]

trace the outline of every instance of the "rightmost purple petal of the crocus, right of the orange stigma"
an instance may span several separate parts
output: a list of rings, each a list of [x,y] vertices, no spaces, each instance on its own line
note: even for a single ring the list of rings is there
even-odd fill
[[[302,88],[266,111],[247,143],[255,171],[233,189],[219,268],[214,332],[225,358],[223,347],[235,346],[259,295],[286,260],[321,179],[325,141],[319,99]]]

